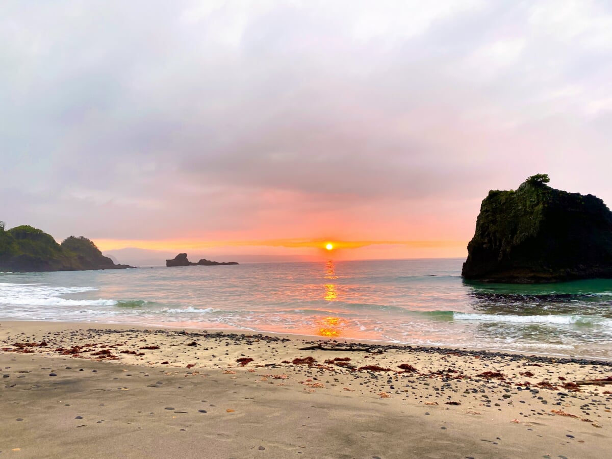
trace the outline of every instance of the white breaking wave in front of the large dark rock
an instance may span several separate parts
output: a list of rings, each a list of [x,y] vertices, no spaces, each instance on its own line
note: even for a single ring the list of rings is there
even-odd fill
[[[473,314],[455,312],[453,319],[483,322],[509,323],[509,324],[550,324],[550,325],[578,325],[612,327],[612,319],[602,316],[584,316],[580,314],[559,314],[545,316],[520,316],[502,314]]]

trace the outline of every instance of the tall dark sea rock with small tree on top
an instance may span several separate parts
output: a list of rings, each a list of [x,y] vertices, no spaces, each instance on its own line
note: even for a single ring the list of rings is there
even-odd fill
[[[592,195],[529,177],[516,191],[490,191],[461,275],[485,282],[535,283],[612,278],[612,212]]]

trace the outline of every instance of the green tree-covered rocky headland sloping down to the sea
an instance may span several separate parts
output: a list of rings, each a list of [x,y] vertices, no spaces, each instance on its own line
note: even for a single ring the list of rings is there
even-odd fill
[[[83,271],[124,269],[103,256],[86,237],[70,236],[58,244],[50,234],[29,225],[5,231],[0,225],[0,271]]]

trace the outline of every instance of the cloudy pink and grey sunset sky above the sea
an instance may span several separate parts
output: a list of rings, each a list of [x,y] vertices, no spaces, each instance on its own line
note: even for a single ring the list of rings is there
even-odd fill
[[[0,101],[0,220],[124,263],[463,257],[536,173],[612,203],[609,1],[4,0]]]

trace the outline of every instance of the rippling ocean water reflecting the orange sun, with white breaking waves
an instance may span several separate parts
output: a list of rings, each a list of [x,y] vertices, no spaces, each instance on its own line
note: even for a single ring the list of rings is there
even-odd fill
[[[0,273],[0,321],[238,329],[612,358],[612,280],[466,282],[463,259]]]

